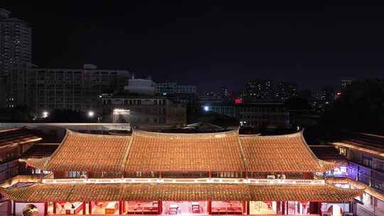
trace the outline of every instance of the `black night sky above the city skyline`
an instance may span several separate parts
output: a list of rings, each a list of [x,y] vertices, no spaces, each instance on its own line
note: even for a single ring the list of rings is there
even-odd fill
[[[380,5],[28,2],[1,7],[31,24],[33,62],[43,68],[93,63],[198,85],[201,93],[239,90],[259,77],[312,90],[338,87],[341,78],[384,77]]]

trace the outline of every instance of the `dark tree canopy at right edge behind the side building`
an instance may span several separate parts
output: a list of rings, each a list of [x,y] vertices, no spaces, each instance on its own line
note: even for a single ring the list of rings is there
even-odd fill
[[[324,126],[384,134],[384,80],[353,82],[324,113]]]

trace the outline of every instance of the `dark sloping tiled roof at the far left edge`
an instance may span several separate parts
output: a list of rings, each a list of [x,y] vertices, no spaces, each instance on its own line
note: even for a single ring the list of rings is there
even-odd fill
[[[41,137],[35,136],[30,130],[24,127],[0,130],[0,148],[16,146],[18,144],[28,144],[40,140]]]

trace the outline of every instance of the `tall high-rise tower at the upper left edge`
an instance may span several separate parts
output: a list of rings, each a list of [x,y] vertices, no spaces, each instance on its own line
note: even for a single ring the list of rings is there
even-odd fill
[[[32,62],[32,29],[28,23],[10,18],[0,9],[0,75],[7,75],[18,63]]]

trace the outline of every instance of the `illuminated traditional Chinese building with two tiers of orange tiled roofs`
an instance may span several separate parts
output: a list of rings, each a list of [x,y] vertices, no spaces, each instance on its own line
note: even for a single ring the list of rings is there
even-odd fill
[[[14,215],[341,215],[363,193],[328,183],[338,164],[316,158],[302,132],[67,131],[52,156],[26,163],[51,174],[1,190]]]

